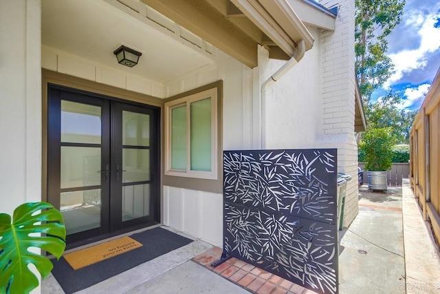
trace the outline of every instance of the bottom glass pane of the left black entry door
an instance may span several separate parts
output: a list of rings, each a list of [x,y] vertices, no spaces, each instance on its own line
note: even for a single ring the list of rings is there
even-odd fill
[[[61,193],[60,210],[67,234],[101,225],[101,189]]]

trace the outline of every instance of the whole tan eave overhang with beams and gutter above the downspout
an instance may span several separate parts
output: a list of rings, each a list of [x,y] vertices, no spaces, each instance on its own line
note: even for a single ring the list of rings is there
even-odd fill
[[[287,0],[141,1],[249,67],[258,65],[258,44],[287,60],[298,41],[306,50],[314,42]]]

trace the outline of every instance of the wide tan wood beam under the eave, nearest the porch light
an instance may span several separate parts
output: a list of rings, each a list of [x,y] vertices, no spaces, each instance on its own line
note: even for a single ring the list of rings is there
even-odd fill
[[[258,65],[258,43],[208,1],[141,1],[245,65]]]

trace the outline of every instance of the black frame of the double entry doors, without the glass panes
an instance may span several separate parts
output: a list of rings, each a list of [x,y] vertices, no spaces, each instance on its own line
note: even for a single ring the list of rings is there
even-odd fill
[[[87,98],[85,98],[85,96]],[[159,154],[159,107],[144,105],[131,101],[123,101],[111,96],[76,90],[52,83],[47,84],[47,200],[56,208],[60,208],[61,193],[61,100],[69,100],[102,107],[102,144],[101,171],[110,167],[110,176],[106,181],[106,174],[101,175],[102,201],[101,201],[101,227],[67,236],[67,242],[77,242],[89,239],[91,241],[117,235],[124,231],[148,227],[160,222],[160,154]],[[122,169],[122,109],[147,113],[151,115],[151,147],[150,164],[151,178],[148,181],[151,190],[151,215],[135,220],[122,222],[122,174],[117,168]],[[74,144],[76,145],[76,144]],[[87,145],[87,144],[82,144]],[[76,145],[78,146],[78,145]],[[87,147],[87,146],[85,146]],[[94,145],[97,147],[97,145]],[[118,167],[117,167],[118,165]],[[118,177],[118,178],[117,178]],[[117,181],[118,180],[118,181]],[[88,187],[90,188],[90,187]],[[67,189],[68,190],[68,189]],[[67,191],[66,190],[66,191]],[[63,189],[65,191],[65,189]],[[115,197],[118,195],[118,197]],[[105,198],[105,197],[108,198]],[[113,197],[112,197],[113,196]]]

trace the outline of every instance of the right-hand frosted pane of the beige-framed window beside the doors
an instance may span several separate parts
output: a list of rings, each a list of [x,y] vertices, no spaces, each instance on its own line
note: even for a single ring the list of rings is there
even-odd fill
[[[211,98],[190,104],[192,171],[211,171]]]

